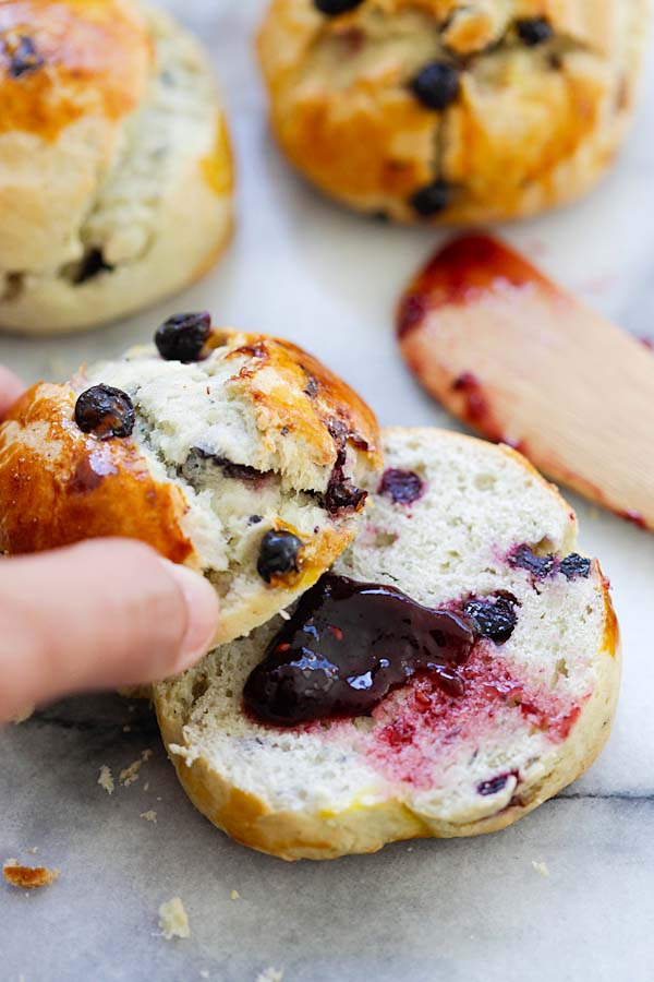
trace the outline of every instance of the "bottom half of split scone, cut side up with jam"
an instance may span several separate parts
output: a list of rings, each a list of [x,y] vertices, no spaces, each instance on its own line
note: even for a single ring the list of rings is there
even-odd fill
[[[607,583],[556,489],[449,432],[387,430],[385,452],[366,524],[293,620],[156,687],[194,804],[289,860],[501,829],[579,777],[614,717]]]

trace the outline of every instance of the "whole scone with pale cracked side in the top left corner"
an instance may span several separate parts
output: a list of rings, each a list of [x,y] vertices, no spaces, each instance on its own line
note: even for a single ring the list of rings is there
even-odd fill
[[[0,3],[0,327],[73,331],[182,289],[232,225],[207,57],[131,0]]]

